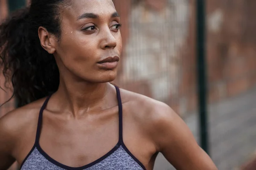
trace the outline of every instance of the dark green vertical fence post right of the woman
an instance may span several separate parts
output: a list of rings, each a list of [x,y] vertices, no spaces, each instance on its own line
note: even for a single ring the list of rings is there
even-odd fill
[[[196,0],[197,11],[197,71],[198,71],[198,109],[201,147],[209,154],[207,123],[207,67],[205,56],[206,26],[205,0]]]

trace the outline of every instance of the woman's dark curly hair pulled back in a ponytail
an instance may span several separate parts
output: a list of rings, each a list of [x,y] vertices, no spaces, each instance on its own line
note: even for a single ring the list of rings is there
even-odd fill
[[[18,107],[57,91],[58,67],[53,55],[41,47],[38,28],[60,40],[61,9],[70,3],[32,0],[30,7],[15,11],[0,25],[0,68],[6,82],[12,82],[10,99],[15,97]]]

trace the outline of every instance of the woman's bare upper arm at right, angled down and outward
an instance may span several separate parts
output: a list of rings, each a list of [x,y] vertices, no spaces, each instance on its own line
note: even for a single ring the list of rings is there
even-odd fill
[[[158,150],[177,170],[217,170],[189,127],[167,105],[157,107],[153,136]]]

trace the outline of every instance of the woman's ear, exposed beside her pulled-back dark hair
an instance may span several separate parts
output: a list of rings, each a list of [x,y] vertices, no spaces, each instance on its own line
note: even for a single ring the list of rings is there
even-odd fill
[[[55,36],[49,34],[46,28],[39,27],[38,28],[38,36],[41,42],[41,46],[49,53],[53,54],[56,51],[56,40]]]

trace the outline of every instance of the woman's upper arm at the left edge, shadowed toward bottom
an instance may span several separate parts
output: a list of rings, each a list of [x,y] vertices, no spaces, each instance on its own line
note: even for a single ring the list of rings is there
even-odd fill
[[[7,170],[15,161],[12,156],[14,148],[14,129],[9,115],[0,119],[0,170]]]

